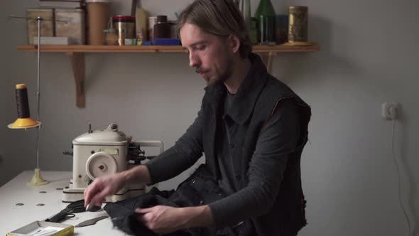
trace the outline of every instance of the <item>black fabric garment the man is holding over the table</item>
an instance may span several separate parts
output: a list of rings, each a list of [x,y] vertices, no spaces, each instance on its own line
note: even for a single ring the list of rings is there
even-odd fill
[[[176,191],[159,191],[152,188],[138,198],[129,198],[116,203],[107,203],[104,210],[111,216],[114,227],[126,232],[129,235],[155,236],[156,233],[148,230],[141,222],[136,220],[138,213],[136,208],[150,208],[155,205],[169,205],[175,208],[205,205],[212,203],[227,195],[219,188],[212,179],[211,173],[205,164],[197,170],[183,183],[180,183]],[[254,227],[250,220],[237,222],[233,227],[201,227],[178,230],[168,234],[170,236],[252,236]]]

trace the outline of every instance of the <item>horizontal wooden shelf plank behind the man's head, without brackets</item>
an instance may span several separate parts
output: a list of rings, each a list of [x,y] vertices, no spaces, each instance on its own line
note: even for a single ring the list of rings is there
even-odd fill
[[[18,50],[36,52],[36,45],[20,45]],[[310,46],[295,45],[254,45],[254,53],[305,53],[320,50],[317,43]],[[136,46],[136,45],[41,45],[42,53],[185,53],[181,45],[177,46]]]

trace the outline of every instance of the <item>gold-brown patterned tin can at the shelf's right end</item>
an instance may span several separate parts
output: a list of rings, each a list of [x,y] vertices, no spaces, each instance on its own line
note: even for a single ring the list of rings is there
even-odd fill
[[[288,42],[308,41],[308,7],[289,6]]]

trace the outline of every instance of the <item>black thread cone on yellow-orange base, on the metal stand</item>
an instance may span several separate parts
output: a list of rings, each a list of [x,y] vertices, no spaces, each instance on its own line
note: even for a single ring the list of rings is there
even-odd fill
[[[36,122],[31,118],[31,112],[29,110],[28,88],[26,85],[16,85],[15,93],[18,119],[16,119],[16,122],[9,124],[8,127],[11,129],[24,129],[39,126],[40,122]]]

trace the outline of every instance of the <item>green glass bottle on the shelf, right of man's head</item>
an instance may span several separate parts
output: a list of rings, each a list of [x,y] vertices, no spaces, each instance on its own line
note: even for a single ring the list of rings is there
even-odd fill
[[[261,44],[275,44],[275,19],[271,0],[261,0],[255,13],[258,25],[258,41]]]

